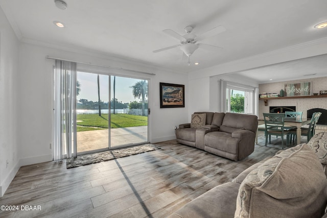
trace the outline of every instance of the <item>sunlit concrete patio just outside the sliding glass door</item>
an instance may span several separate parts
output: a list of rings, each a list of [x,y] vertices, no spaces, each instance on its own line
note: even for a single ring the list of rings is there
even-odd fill
[[[148,126],[110,129],[111,148],[148,141]],[[77,152],[105,149],[109,146],[108,129],[77,132]]]

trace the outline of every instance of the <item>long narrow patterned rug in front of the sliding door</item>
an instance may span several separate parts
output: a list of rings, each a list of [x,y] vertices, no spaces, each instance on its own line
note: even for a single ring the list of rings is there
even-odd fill
[[[134,146],[125,149],[116,149],[111,151],[92,153],[71,157],[66,160],[66,167],[73,168],[77,166],[87,165],[91,163],[98,163],[101,161],[112,160],[115,158],[126,157],[134,154],[140,154],[153,150],[160,149],[153,144],[142,144],[141,146]]]

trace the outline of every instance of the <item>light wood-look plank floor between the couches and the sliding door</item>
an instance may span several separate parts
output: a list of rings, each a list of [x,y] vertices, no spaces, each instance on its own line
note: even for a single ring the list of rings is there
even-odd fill
[[[2,217],[166,217],[207,190],[231,181],[278,147],[255,145],[231,161],[170,140],[161,149],[66,169],[65,161],[23,166],[0,205]],[[21,211],[20,206],[41,210]]]

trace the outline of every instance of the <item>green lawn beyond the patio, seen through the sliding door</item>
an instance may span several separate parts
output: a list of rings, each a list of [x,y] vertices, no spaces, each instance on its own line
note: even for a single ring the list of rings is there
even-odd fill
[[[78,122],[77,132],[88,130],[108,129],[108,114],[78,114],[77,120],[83,120]],[[110,115],[110,127],[122,128],[122,127],[138,127],[147,126],[147,116],[137,116],[131,114],[116,113]]]

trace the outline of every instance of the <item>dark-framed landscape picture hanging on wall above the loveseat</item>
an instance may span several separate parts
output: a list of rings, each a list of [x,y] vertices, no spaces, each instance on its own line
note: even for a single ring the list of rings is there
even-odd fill
[[[185,107],[184,85],[160,83],[160,108]]]

